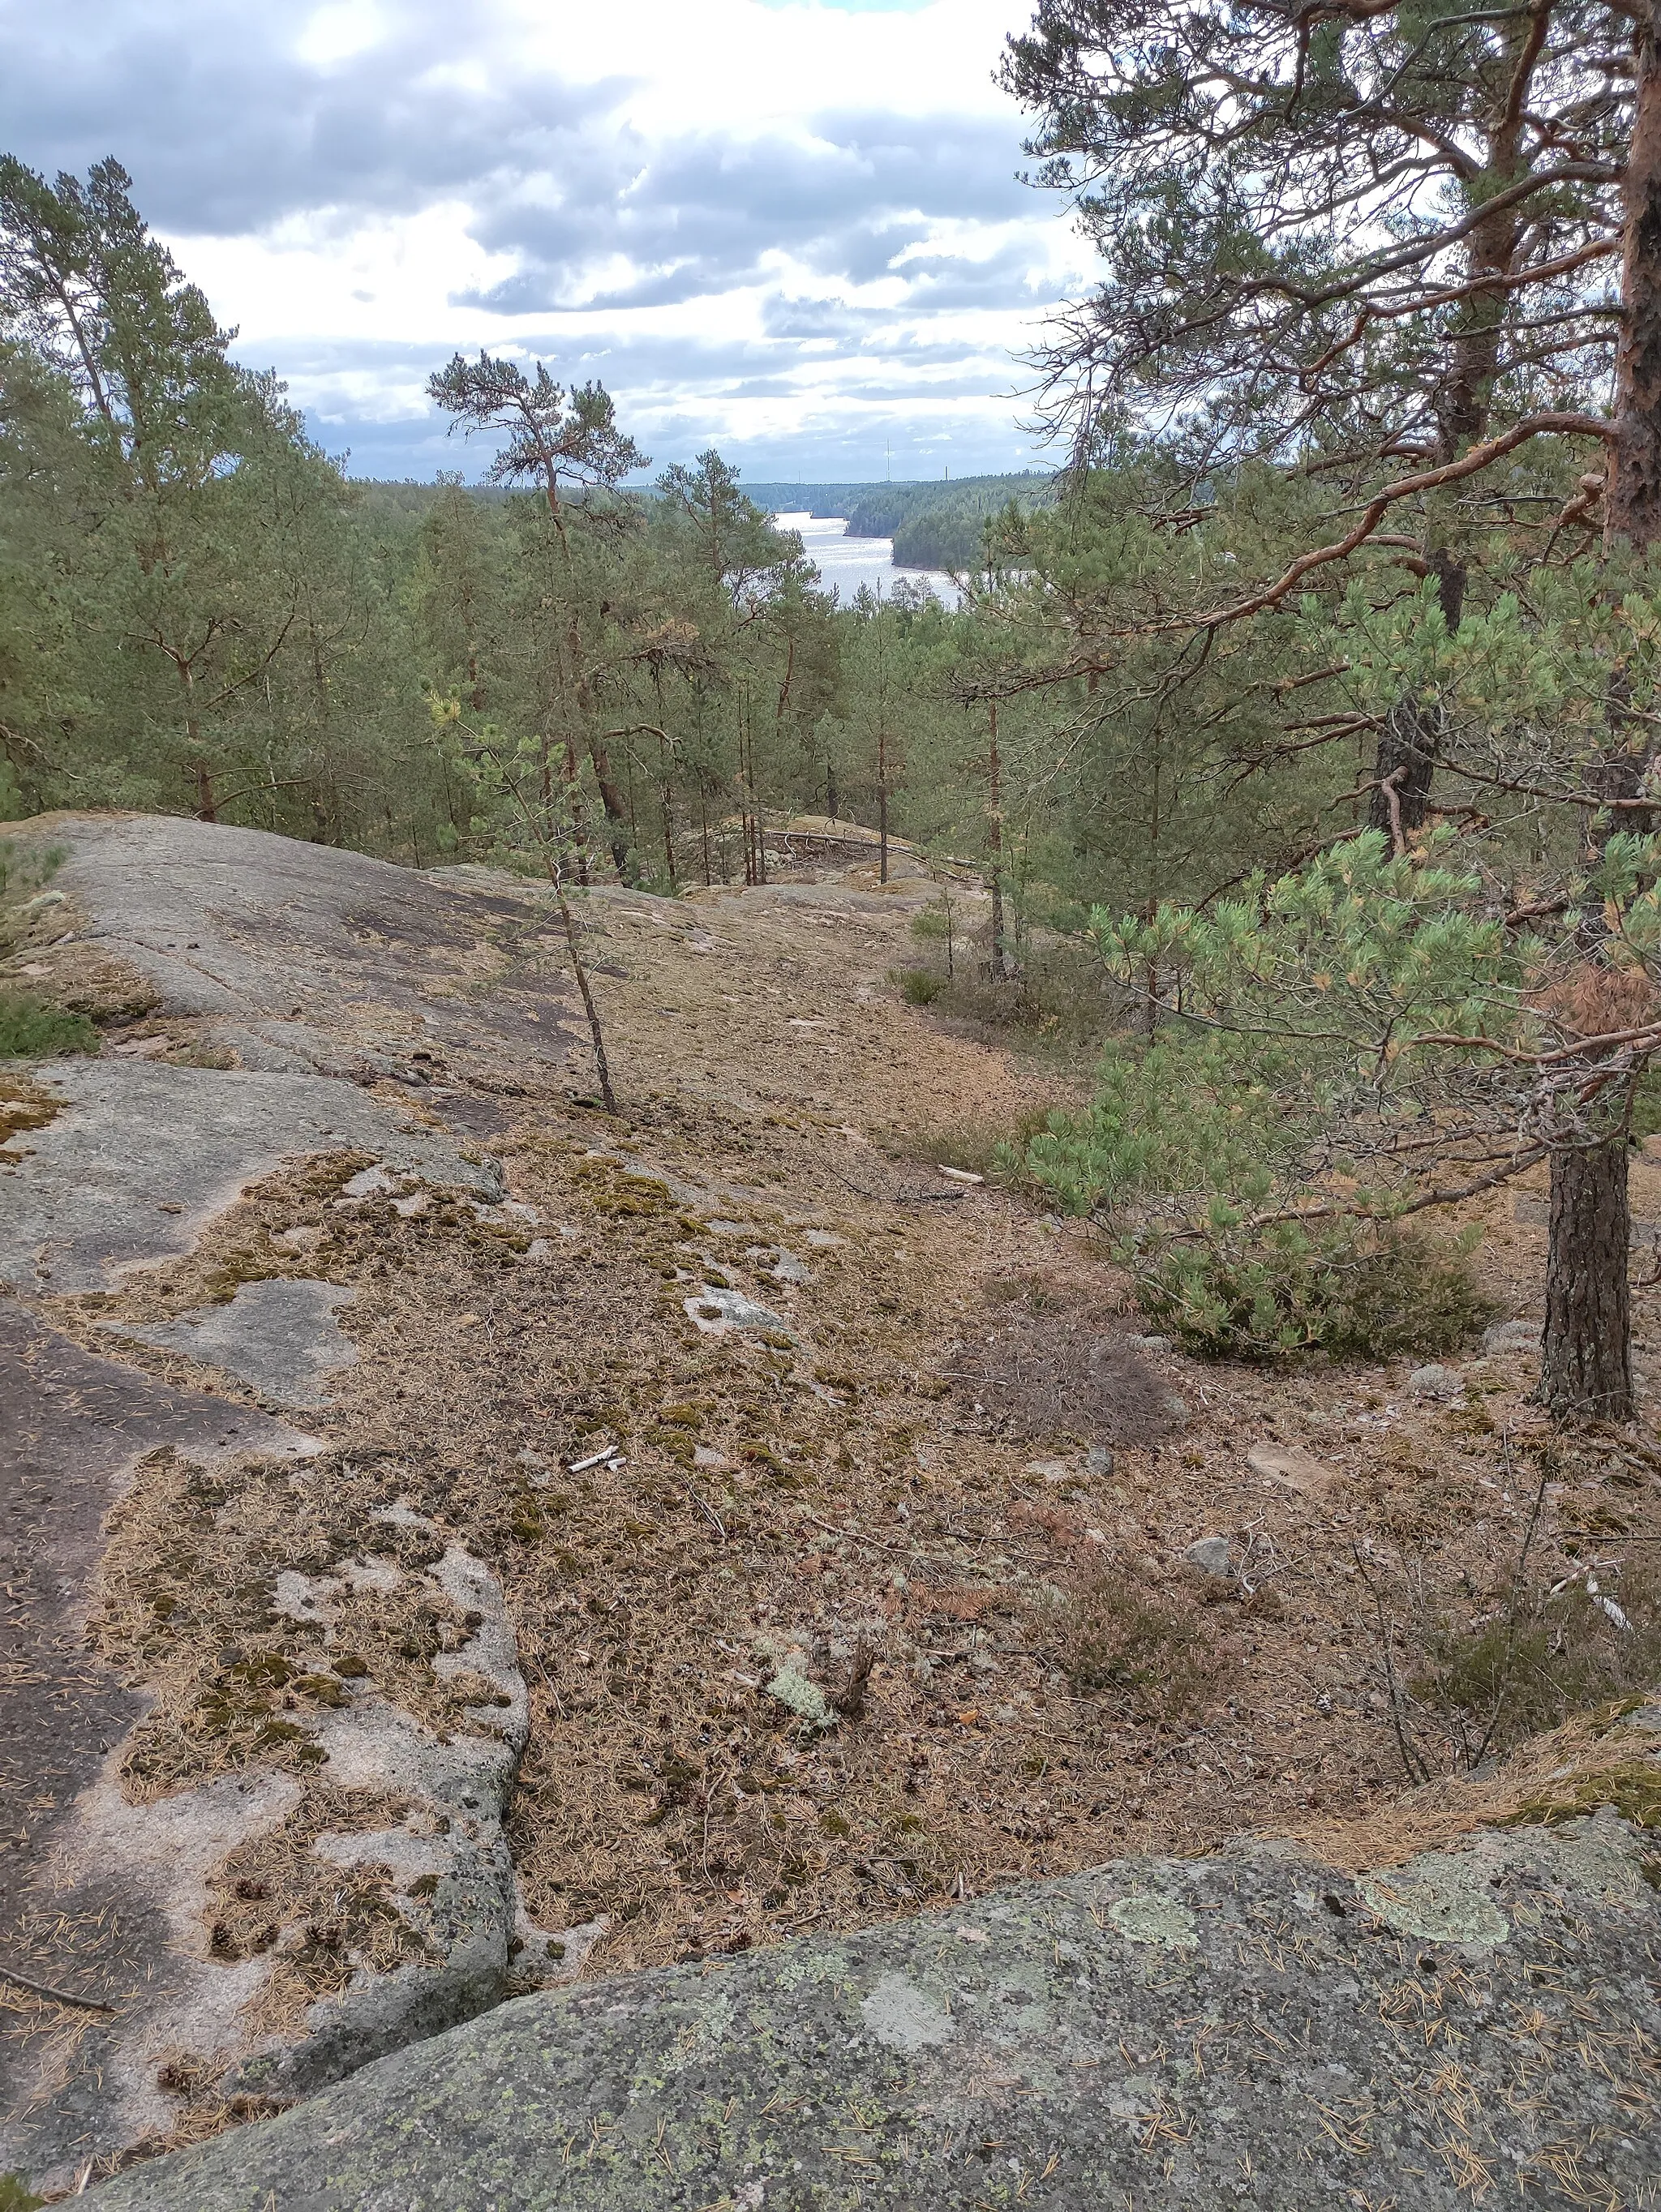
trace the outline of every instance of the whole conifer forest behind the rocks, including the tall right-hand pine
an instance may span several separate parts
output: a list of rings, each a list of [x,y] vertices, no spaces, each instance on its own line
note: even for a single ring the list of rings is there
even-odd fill
[[[947,595],[836,599],[557,363],[433,361],[456,471],[354,480],[117,159],[7,157],[0,805],[666,896],[792,816],[905,838],[991,894],[989,1006],[1099,1020],[1006,1166],[1150,1312],[1252,1360],[1411,1336],[1460,1208],[1548,1164],[1542,1402],[1623,1420],[1661,20],[1040,0],[1002,77],[1097,279],[1026,365],[1051,476],[863,489]]]

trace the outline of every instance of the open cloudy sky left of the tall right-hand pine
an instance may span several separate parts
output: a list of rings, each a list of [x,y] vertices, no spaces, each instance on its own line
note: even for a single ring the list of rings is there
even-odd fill
[[[993,84],[1028,0],[0,0],[0,148],[115,155],[237,358],[354,476],[480,473],[458,347],[597,378],[661,467],[1042,462],[1088,283]]]

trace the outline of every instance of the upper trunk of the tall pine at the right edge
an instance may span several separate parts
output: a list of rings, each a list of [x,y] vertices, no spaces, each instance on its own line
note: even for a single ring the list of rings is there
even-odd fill
[[[1632,40],[1637,106],[1626,159],[1621,341],[1615,352],[1610,544],[1661,540],[1661,0],[1643,0]]]

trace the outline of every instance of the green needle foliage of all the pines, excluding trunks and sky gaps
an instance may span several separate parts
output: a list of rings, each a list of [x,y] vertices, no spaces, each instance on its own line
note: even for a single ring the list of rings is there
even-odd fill
[[[1033,86],[1062,53],[1013,51]],[[1172,53],[1126,66],[1163,84]],[[1296,119],[1305,186],[1327,95]],[[1099,210],[1163,190],[1132,159],[1161,113],[1137,93],[1112,122]],[[752,498],[703,451],[648,480],[599,385],[458,356],[429,392],[458,458],[487,440],[489,484],[365,487],[237,365],[117,164],[46,184],[4,157],[0,814],[155,807],[668,896],[765,874],[798,814],[887,830],[958,900],[944,960],[898,980],[911,1004],[1075,1075],[1108,1035],[1088,1106],[1006,1133],[1002,1166],[1101,1223],[1161,1325],[1258,1360],[1453,1349],[1482,1301],[1446,1208],[1654,1113],[1661,562],[1564,535],[1579,447],[1542,438],[1219,619],[1393,467],[1345,447],[1327,473],[1338,387],[1305,418],[1247,380],[1208,427],[1208,254],[1252,261],[1239,212],[1166,237],[1181,374],[1141,314],[1155,232],[1115,246],[1099,327],[1185,411],[1155,434],[1099,407],[1057,476]],[[1334,263],[1356,299],[1362,248]],[[1287,343],[1334,334],[1285,314]],[[1440,374],[1427,332],[1391,323],[1334,376],[1365,367],[1378,420],[1407,420]],[[907,580],[838,604],[770,520],[787,489],[863,489],[856,526],[962,566],[962,599]],[[1433,805],[1385,834],[1402,728]],[[1588,1035],[1617,1042],[1575,1062]],[[4,1053],[91,1042],[0,1009]]]

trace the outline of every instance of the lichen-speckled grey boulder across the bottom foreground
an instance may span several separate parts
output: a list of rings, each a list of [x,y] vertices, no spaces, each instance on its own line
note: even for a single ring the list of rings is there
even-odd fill
[[[1469,2212],[1471,2157],[1544,2203],[1564,2143],[1577,2174],[1595,2159],[1599,2203],[1641,2203],[1661,2035],[1643,1849],[1599,1816],[1354,1882],[1247,1845],[586,1982],[88,2205]],[[1444,2039],[1458,2101],[1435,2086]]]

